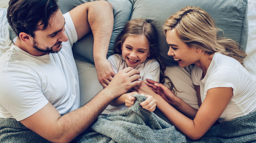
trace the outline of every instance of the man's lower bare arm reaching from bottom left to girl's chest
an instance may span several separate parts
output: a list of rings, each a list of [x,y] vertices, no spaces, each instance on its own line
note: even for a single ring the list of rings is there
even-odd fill
[[[139,71],[128,67],[119,71],[108,87],[83,107],[61,117],[56,108],[48,103],[20,122],[51,142],[70,142],[87,129],[113,99],[140,84],[139,78]]]

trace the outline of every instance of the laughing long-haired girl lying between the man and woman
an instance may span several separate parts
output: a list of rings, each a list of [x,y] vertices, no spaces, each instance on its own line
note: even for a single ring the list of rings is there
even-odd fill
[[[165,66],[160,60],[157,30],[151,20],[133,19],[128,21],[117,36],[115,53],[108,60],[116,73],[124,68],[132,67],[140,71],[140,80],[151,79],[160,81],[160,83],[164,82]],[[118,97],[110,103],[102,115],[127,109],[124,105],[125,98],[134,103],[136,99],[132,95],[136,93],[131,92]],[[147,100],[141,103],[141,106],[149,111],[154,111],[156,104],[151,100],[152,97],[147,96]],[[131,104],[126,105],[131,106]]]

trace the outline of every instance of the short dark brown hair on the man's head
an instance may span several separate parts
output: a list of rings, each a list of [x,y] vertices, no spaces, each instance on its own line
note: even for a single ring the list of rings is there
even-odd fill
[[[34,37],[34,31],[45,30],[51,16],[57,12],[57,0],[10,0],[7,20],[14,33]]]

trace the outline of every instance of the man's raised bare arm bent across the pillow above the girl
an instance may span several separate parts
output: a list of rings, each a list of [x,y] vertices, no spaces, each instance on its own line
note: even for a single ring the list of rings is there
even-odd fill
[[[106,58],[114,25],[112,5],[106,1],[88,2],[71,10],[70,15],[78,39],[90,31],[93,32],[93,57],[97,78],[105,88],[116,74]]]

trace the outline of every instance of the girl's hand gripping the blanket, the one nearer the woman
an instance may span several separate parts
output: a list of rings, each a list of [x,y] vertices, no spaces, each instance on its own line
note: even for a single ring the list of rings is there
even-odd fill
[[[155,111],[157,103],[156,103],[156,100],[153,98],[153,96],[146,95],[144,93],[141,93],[141,95],[146,96],[147,99],[145,101],[141,102],[140,106],[142,106],[142,108],[144,108],[144,109],[146,109],[146,110],[148,110],[150,112]]]

